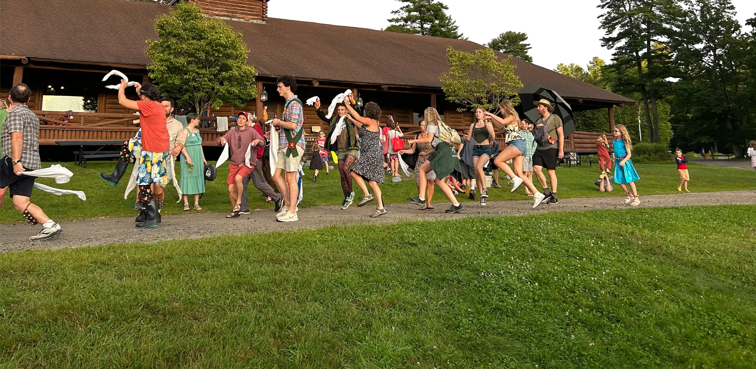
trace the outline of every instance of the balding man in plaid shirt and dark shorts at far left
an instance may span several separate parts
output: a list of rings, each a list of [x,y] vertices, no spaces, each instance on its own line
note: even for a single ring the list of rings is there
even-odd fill
[[[63,229],[51,220],[39,206],[32,204],[34,180],[36,177],[26,176],[24,171],[42,169],[39,162],[39,118],[29,110],[26,103],[32,91],[29,86],[20,83],[8,92],[8,116],[0,131],[0,188],[9,187],[13,206],[23,214],[26,221],[32,225],[42,223],[42,230],[38,235],[29,237],[30,241],[44,241],[60,235]]]

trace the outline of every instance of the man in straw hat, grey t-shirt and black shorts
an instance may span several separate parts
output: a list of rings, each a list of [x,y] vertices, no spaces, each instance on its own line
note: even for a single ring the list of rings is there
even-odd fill
[[[547,204],[559,204],[559,200],[556,199],[556,189],[558,188],[556,186],[556,164],[565,155],[562,118],[559,118],[559,115],[552,114],[554,107],[549,100],[541,99],[535,101],[534,104],[538,107],[538,115],[541,115],[541,118],[535,121],[533,129],[537,143],[533,153],[533,171],[538,177],[541,187],[544,188],[544,195],[548,199]],[[544,167],[549,174],[548,183],[544,176]],[[551,183],[551,190],[549,190],[549,183]]]

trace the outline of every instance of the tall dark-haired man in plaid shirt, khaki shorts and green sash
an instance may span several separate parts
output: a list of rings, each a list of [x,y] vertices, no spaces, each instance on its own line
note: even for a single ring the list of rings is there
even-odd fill
[[[305,134],[302,126],[305,124],[302,101],[299,100],[296,91],[296,80],[291,75],[283,75],[278,78],[278,94],[286,99],[283,110],[283,120],[273,119],[273,125],[278,127],[278,163],[273,180],[278,187],[278,192],[283,195],[286,206],[276,215],[280,222],[296,222],[296,200],[299,198],[299,186],[297,174],[299,173],[299,161],[305,153]],[[281,178],[281,171],[286,172],[286,182]],[[288,184],[288,186],[287,186]]]

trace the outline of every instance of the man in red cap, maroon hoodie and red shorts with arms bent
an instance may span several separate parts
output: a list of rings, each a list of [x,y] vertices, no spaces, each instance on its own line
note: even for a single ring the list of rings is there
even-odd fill
[[[243,192],[242,180],[249,176],[257,166],[256,147],[265,147],[265,139],[257,131],[247,125],[246,115],[239,115],[237,126],[231,128],[222,137],[215,139],[215,144],[225,146],[228,143],[228,198],[234,207],[227,218],[239,217],[241,213],[241,194]],[[250,147],[253,146],[253,147]],[[249,164],[245,158],[249,149]]]

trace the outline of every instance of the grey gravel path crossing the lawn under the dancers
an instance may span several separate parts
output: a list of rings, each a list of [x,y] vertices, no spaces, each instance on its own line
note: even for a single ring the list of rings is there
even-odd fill
[[[77,248],[82,246],[112,244],[120,242],[150,241],[202,238],[212,235],[239,235],[249,232],[270,232],[296,229],[317,229],[324,226],[353,224],[387,224],[407,220],[448,220],[461,217],[483,217],[492,215],[528,215],[543,214],[550,211],[587,211],[594,209],[631,208],[624,204],[624,196],[600,198],[567,198],[559,204],[543,204],[532,210],[532,201],[491,201],[488,206],[480,207],[473,202],[463,202],[462,214],[445,214],[448,204],[437,201],[435,211],[417,211],[411,204],[390,204],[389,214],[370,218],[375,203],[364,208],[349,208],[342,211],[337,206],[321,206],[299,211],[299,222],[278,223],[273,211],[258,210],[252,214],[227,220],[225,214],[178,214],[163,217],[163,223],[156,228],[135,229],[133,218],[96,218],[61,223],[64,233],[49,241],[33,243],[29,235],[39,232],[39,226],[27,224],[0,225],[2,244],[0,251],[54,250],[60,248]],[[440,200],[440,199],[439,199]],[[690,192],[668,195],[641,196],[641,207],[674,207],[689,205],[720,204],[756,204],[756,190],[727,192]],[[372,205],[372,206],[370,206]],[[446,205],[446,206],[445,206]]]

